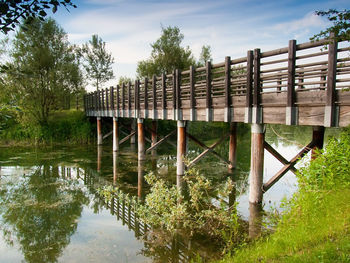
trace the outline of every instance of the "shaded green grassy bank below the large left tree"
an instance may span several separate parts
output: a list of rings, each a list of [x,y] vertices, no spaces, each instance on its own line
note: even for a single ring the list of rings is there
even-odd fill
[[[53,112],[46,125],[31,122],[10,122],[0,131],[2,145],[50,143],[89,143],[95,138],[92,125],[84,112],[64,110]]]

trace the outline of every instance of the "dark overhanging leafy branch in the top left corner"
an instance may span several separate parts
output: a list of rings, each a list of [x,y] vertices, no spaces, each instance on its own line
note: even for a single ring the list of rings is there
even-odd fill
[[[56,13],[59,6],[76,8],[71,0],[1,0],[0,1],[0,32],[14,30],[16,25],[20,23],[20,19],[24,19],[27,23],[31,22],[35,17],[44,20],[47,16],[45,10],[51,9]]]

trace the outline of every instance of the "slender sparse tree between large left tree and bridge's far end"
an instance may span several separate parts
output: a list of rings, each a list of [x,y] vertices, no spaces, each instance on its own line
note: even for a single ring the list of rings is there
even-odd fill
[[[114,78],[112,69],[114,59],[105,46],[106,43],[98,35],[92,35],[91,40],[82,47],[84,68],[97,90],[103,83]]]

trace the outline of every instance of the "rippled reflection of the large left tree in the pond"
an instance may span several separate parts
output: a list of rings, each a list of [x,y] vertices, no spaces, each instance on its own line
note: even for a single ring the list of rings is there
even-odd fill
[[[0,185],[4,239],[18,243],[27,262],[57,262],[89,203],[79,182],[63,179],[63,171],[43,164],[29,174],[6,177],[8,182]]]

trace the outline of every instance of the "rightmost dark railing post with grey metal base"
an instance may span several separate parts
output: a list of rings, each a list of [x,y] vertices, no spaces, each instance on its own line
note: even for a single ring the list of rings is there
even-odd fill
[[[338,43],[335,35],[330,35],[330,43],[328,45],[328,76],[327,76],[327,98],[324,112],[324,126],[338,126],[338,117],[336,116],[336,81],[337,81],[337,49]]]

